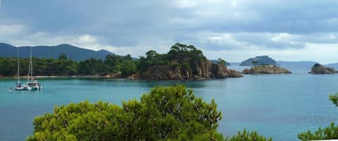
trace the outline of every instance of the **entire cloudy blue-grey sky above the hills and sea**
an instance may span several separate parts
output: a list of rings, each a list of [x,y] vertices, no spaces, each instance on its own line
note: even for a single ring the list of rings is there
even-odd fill
[[[338,0],[0,0],[0,41],[137,58],[193,45],[208,59],[338,62]]]

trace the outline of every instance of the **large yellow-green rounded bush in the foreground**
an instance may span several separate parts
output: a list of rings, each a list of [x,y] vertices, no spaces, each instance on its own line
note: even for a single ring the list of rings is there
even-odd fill
[[[156,87],[140,101],[55,107],[34,120],[39,140],[224,140],[217,132],[221,113],[184,86]]]

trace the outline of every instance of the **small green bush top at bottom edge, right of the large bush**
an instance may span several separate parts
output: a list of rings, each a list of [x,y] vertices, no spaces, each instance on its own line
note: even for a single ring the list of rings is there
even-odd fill
[[[263,135],[258,135],[257,131],[248,132],[246,129],[243,132],[238,132],[237,135],[226,137],[225,141],[272,141],[273,139],[266,138]]]

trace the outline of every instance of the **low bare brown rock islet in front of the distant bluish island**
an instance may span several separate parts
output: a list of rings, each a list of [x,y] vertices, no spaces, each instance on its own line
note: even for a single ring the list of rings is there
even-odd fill
[[[251,69],[244,69],[242,74],[292,74],[292,72],[275,65],[258,65]]]

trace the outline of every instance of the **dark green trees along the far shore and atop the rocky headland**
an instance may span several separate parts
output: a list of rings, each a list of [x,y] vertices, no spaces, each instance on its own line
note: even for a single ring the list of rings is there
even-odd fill
[[[29,60],[29,58],[20,58],[20,76],[27,75]],[[105,60],[89,58],[75,61],[62,53],[58,59],[32,58],[32,67],[35,76],[110,75],[114,78],[127,78],[136,72],[142,74],[153,66],[165,66],[171,69],[179,67],[181,72],[187,71],[194,76],[199,75],[196,74],[199,69],[197,67],[201,66],[201,62],[206,61],[201,50],[192,45],[175,43],[168,53],[148,51],[145,57],[140,56],[138,60],[130,55],[106,55]],[[0,76],[16,76],[17,67],[18,58],[0,58]],[[177,73],[180,72],[173,74]]]

